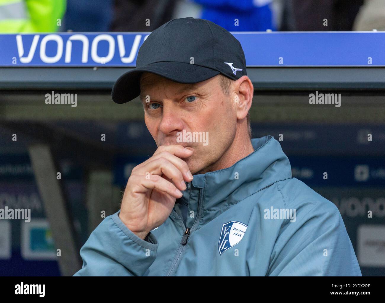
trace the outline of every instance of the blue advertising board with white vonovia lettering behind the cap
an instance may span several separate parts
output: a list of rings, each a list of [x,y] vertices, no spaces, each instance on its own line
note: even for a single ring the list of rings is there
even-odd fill
[[[385,32],[233,32],[247,66],[385,66]],[[134,67],[148,32],[0,35],[0,66]],[[231,58],[229,58],[231,60]]]

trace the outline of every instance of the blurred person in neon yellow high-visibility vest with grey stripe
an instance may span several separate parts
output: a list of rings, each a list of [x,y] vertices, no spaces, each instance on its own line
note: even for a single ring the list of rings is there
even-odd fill
[[[65,0],[0,0],[0,33],[57,31],[65,6]]]

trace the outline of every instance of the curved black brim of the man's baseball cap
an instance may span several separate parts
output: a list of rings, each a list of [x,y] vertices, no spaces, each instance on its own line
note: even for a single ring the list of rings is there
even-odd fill
[[[220,74],[211,68],[183,62],[151,63],[120,76],[112,88],[112,100],[122,104],[139,96],[139,79],[143,72],[154,73],[178,83],[198,83]]]

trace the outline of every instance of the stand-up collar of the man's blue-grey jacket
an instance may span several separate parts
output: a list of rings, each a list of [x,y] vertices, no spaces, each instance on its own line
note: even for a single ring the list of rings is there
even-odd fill
[[[272,136],[251,139],[254,152],[219,171],[194,175],[192,187],[204,189],[203,210],[212,211],[238,203],[276,181],[291,178],[288,157]],[[189,191],[181,200],[189,200]]]

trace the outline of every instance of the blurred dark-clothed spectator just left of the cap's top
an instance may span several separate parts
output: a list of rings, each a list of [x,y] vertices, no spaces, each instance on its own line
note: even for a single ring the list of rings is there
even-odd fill
[[[115,0],[111,30],[156,30],[172,19],[175,2],[176,0]]]

